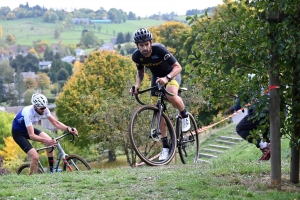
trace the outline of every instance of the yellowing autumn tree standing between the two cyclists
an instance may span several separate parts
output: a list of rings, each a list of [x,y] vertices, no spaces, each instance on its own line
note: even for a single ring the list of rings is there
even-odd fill
[[[129,58],[112,52],[93,52],[68,80],[55,102],[56,114],[79,130],[81,146],[101,143],[114,151],[121,145],[129,120],[121,113],[129,103],[124,104],[120,99],[128,100],[123,91],[128,94],[135,72]],[[117,125],[118,122],[124,126]]]

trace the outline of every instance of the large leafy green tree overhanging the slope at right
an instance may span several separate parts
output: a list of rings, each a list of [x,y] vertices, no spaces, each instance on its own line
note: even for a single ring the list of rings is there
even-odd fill
[[[257,110],[268,106],[270,99],[270,128],[272,147],[272,180],[271,184],[280,187],[280,135],[291,138],[292,160],[296,160],[296,178],[299,182],[299,150],[300,138],[299,114],[299,46],[297,35],[299,1],[281,7],[284,1],[269,2],[251,1],[232,2],[217,8],[217,12],[210,18],[189,17],[192,24],[192,36],[195,39],[193,54],[189,57],[188,72],[195,75],[193,81],[199,82],[196,76],[203,77],[201,81],[206,87],[204,95],[210,97],[211,103],[220,104],[232,94],[240,94],[243,99],[259,99]],[[296,17],[295,17],[296,16]],[[293,38],[286,40],[286,38]],[[282,67],[281,67],[282,66]],[[255,74],[253,80],[248,81],[247,74]],[[197,80],[198,79],[198,80]],[[222,87],[220,89],[220,83]],[[279,86],[280,90],[270,90],[269,97],[261,95],[261,88],[268,89],[269,85]],[[293,88],[294,92],[292,92]],[[280,94],[280,96],[279,96]],[[280,97],[280,101],[279,101]],[[292,100],[292,101],[291,101]],[[280,121],[284,110],[279,112],[279,102],[291,105],[292,117]],[[293,110],[295,112],[293,112]],[[299,110],[299,109],[298,109]],[[261,114],[261,113],[258,113]],[[282,118],[281,118],[282,119]],[[292,119],[287,123],[287,120]],[[283,126],[284,122],[294,124]],[[260,129],[264,129],[261,126]],[[298,167],[297,167],[298,166]],[[294,175],[295,175],[294,174]]]

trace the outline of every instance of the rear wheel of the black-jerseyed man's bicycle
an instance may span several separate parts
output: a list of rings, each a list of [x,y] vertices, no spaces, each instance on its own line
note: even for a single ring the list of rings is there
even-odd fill
[[[176,136],[178,138],[178,153],[183,164],[197,163],[199,157],[199,135],[198,127],[194,117],[190,117],[191,128],[183,133],[181,129],[181,117],[176,119]]]

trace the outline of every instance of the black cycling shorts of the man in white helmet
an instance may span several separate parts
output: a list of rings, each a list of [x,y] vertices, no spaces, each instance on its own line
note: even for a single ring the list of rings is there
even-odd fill
[[[34,134],[39,135],[42,131],[34,128]],[[21,149],[27,154],[27,152],[32,149],[31,143],[28,141],[30,137],[28,132],[20,132],[12,129],[12,136],[15,142],[21,147]]]

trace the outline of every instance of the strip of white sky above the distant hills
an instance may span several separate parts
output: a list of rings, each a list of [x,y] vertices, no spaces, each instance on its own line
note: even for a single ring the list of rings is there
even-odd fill
[[[48,9],[65,9],[67,11],[78,8],[89,8],[95,11],[100,7],[103,7],[108,11],[110,8],[116,8],[122,9],[127,12],[127,14],[131,11],[140,17],[171,12],[174,12],[177,15],[185,15],[187,10],[203,10],[207,7],[213,7],[223,3],[222,0],[9,0],[3,1],[0,7],[8,6],[11,9],[14,9],[20,4],[25,5],[27,2],[30,7],[39,5]]]

